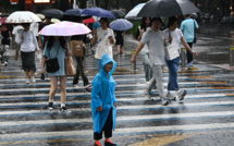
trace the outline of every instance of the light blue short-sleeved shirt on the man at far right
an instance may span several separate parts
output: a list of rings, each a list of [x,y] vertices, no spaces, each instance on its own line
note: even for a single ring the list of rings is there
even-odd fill
[[[194,41],[194,35],[195,28],[198,28],[198,24],[195,20],[193,19],[186,19],[182,22],[181,24],[181,31],[184,33],[184,39],[186,42],[193,42]]]

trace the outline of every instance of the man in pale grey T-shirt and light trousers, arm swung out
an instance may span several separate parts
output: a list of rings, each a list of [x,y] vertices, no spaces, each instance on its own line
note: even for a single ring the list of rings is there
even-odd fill
[[[162,20],[160,17],[153,17],[151,20],[151,28],[148,29],[146,33],[144,33],[140,42],[133,58],[131,59],[131,62],[132,63],[135,62],[136,56],[143,49],[145,44],[147,44],[149,49],[149,60],[153,72],[153,77],[150,80],[149,85],[144,94],[149,99],[151,99],[150,90],[157,83],[157,88],[159,92],[159,96],[161,98],[161,102],[163,106],[167,106],[169,104],[169,100],[165,98],[164,86],[163,86],[163,74],[162,74],[162,68],[164,65],[165,37],[163,35],[163,32],[160,31],[161,24],[162,24]]]

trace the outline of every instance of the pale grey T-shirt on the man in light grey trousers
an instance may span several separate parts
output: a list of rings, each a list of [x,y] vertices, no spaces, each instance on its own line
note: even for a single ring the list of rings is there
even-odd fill
[[[164,64],[164,35],[162,31],[148,29],[143,34],[141,42],[148,45],[150,65]]]

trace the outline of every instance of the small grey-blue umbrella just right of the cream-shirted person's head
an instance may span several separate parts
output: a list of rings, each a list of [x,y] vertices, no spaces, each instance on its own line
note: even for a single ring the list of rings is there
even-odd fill
[[[114,31],[127,31],[133,27],[133,24],[131,22],[128,22],[127,20],[118,19],[118,20],[111,22],[109,27]]]

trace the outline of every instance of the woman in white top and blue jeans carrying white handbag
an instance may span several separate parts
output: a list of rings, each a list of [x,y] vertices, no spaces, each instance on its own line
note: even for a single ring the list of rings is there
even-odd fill
[[[183,37],[183,33],[181,29],[177,28],[178,20],[175,16],[172,16],[169,19],[168,28],[164,31],[165,39],[169,44],[174,44],[180,51],[180,44],[186,48],[187,51],[192,52],[195,57],[198,54],[190,49],[190,47],[187,45]],[[183,100],[187,92],[185,89],[180,89],[178,83],[177,83],[177,70],[181,62],[181,58],[177,57],[173,60],[165,59],[165,63],[169,68],[169,83],[168,83],[168,98],[174,98],[175,96],[178,96],[180,100]],[[174,90],[174,95],[172,95],[172,90]]]

